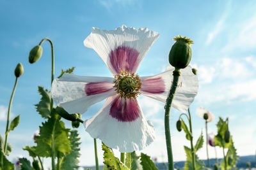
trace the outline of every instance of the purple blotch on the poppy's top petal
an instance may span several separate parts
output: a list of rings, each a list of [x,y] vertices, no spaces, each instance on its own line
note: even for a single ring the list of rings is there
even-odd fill
[[[138,69],[139,52],[129,46],[118,46],[109,53],[109,62],[116,74],[120,71],[136,72]]]

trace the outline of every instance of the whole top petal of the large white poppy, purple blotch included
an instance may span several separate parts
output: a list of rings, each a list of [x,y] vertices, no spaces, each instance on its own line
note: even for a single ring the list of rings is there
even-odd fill
[[[141,60],[159,33],[147,28],[118,27],[115,30],[100,30],[92,27],[92,33],[84,39],[84,46],[99,54],[112,74],[120,70],[136,73]]]

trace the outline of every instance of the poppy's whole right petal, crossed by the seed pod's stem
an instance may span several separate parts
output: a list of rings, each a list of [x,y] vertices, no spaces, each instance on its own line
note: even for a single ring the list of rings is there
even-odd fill
[[[172,85],[174,67],[156,76],[141,77],[141,94],[166,103],[170,86]],[[183,113],[188,111],[198,92],[198,79],[192,72],[191,66],[180,69],[180,77],[172,107]]]

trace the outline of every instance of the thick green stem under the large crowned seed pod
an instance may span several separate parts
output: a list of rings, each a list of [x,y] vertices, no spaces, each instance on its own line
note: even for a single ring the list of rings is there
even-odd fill
[[[176,69],[173,71],[173,82],[172,87],[170,89],[170,93],[168,95],[168,98],[166,99],[166,105],[165,105],[165,113],[164,113],[164,129],[165,129],[165,139],[166,139],[166,148],[167,148],[167,154],[168,154],[168,167],[169,170],[173,170],[173,155],[172,155],[172,141],[171,141],[171,134],[170,134],[170,109],[172,105],[172,100],[175,94],[175,90],[178,85],[180,76],[179,69]]]

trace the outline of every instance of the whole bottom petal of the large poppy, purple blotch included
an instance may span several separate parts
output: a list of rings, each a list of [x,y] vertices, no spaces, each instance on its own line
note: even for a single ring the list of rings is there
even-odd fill
[[[92,138],[99,138],[120,152],[142,150],[154,141],[154,127],[145,120],[136,99],[108,97],[101,110],[84,127]]]

